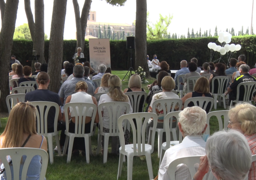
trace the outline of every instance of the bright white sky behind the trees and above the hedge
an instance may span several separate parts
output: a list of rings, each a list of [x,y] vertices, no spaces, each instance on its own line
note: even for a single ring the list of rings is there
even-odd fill
[[[78,0],[80,13],[84,0]],[[233,27],[235,34],[241,30],[245,33],[251,27],[253,0],[233,1],[233,0],[147,0],[147,11],[150,13],[150,21],[156,22],[159,14],[162,16],[173,15],[173,19],[168,28],[168,32],[177,35],[186,35],[188,28],[194,28],[194,33],[201,27],[202,33],[211,29],[214,34],[215,26],[218,31],[226,31]],[[256,2],[255,2],[256,3]],[[31,0],[31,9],[34,14],[34,1]],[[53,0],[44,0],[44,30],[50,36],[51,19],[53,11]],[[97,22],[113,22],[131,24],[136,19],[136,0],[127,0],[124,6],[112,6],[105,0],[93,0],[91,11],[96,11]],[[253,12],[253,24],[256,33],[256,8]],[[1,21],[1,20],[0,20]],[[17,20],[15,26],[27,23],[24,9],[24,0],[19,0]],[[0,23],[1,24],[1,23]],[[65,19],[64,39],[75,39],[75,15],[72,0],[68,0]]]

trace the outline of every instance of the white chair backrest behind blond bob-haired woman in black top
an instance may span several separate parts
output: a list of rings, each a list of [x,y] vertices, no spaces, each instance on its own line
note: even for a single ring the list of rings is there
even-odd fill
[[[143,105],[142,105],[142,111],[144,112],[144,106],[145,106],[146,97],[147,97],[146,92],[134,91],[134,92],[127,92],[127,93],[125,93],[125,95],[129,96],[133,113],[139,112],[140,101],[141,101],[141,98],[144,96],[144,101],[143,101]]]

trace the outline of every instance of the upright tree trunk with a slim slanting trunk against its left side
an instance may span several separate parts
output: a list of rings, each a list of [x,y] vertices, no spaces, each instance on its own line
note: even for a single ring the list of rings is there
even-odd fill
[[[44,58],[44,0],[35,0],[35,30],[33,50],[40,55],[39,62],[45,63]],[[33,66],[33,65],[32,65]]]

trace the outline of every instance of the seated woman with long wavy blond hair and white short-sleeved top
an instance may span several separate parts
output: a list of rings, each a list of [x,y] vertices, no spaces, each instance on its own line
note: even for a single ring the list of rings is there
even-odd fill
[[[126,112],[127,109],[126,107],[124,107],[121,111],[120,115],[124,115],[125,113],[132,113],[132,107],[131,107],[131,103],[130,100],[128,98],[127,95],[125,95],[121,89],[122,87],[122,82],[120,80],[120,78],[117,75],[112,75],[109,78],[109,93],[107,94],[102,94],[100,96],[100,101],[99,101],[99,105],[101,103],[106,103],[106,102],[113,102],[113,101],[117,101],[117,102],[126,102],[130,105],[130,111]],[[103,132],[109,132],[109,113],[106,107],[103,107],[101,109],[101,113],[102,113],[102,120],[103,120],[103,127],[102,128]],[[124,122],[123,122],[123,127],[124,127]],[[129,144],[129,138],[130,138],[130,132],[126,129],[125,130],[125,144]],[[112,147],[116,147],[115,149],[112,148],[112,153],[117,154],[119,152],[119,143],[117,143],[117,138],[118,137],[112,137],[112,143],[116,143],[116,144],[112,144]],[[108,145],[108,144],[106,144]],[[101,152],[103,153],[103,147],[104,147],[104,136],[102,136],[102,140],[101,140]]]

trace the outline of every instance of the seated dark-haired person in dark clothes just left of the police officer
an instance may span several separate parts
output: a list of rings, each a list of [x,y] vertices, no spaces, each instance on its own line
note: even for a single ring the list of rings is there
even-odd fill
[[[212,79],[217,76],[226,76],[225,70],[226,70],[226,66],[223,63],[215,64],[215,72],[211,74],[209,78],[210,92],[212,92]],[[227,87],[227,83],[228,82],[225,82],[224,87]],[[218,80],[215,79],[213,93],[218,93],[218,87],[219,87]],[[223,93],[225,92],[225,89],[223,89]]]

